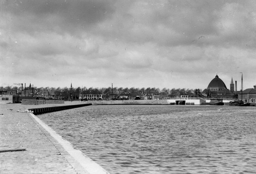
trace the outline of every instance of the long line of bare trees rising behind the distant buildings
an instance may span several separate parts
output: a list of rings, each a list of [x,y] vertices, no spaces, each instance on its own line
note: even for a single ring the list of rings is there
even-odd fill
[[[42,90],[47,90],[55,94],[57,98],[63,98],[63,99],[68,99],[70,97],[70,94],[72,95],[73,99],[78,99],[80,94],[104,94],[107,96],[111,96],[112,94],[115,95],[129,95],[131,97],[135,97],[137,95],[151,95],[151,94],[165,94],[165,95],[179,95],[181,93],[186,93],[189,96],[195,96],[195,90],[192,89],[168,89],[168,88],[163,88],[160,90],[159,88],[117,88],[111,87],[108,88],[87,88],[87,87],[77,87],[77,88],[53,88],[53,87],[34,87],[36,92],[40,92]],[[21,94],[22,87],[19,86],[0,86],[0,90],[17,90],[18,94]],[[201,90],[200,90],[201,91]]]

